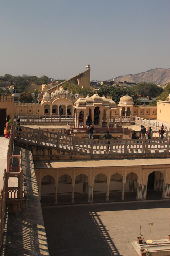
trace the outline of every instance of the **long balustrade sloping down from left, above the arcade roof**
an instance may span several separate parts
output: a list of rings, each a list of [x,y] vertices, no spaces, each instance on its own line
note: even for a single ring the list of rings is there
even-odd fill
[[[25,131],[24,131],[25,129]],[[115,128],[114,128],[115,129]],[[123,129],[123,128],[121,128]],[[21,143],[52,147],[54,149],[72,151],[89,155],[153,155],[170,154],[170,138],[156,139],[111,139],[93,140],[76,137],[60,132],[47,132],[40,129],[22,127],[21,134],[15,139]]]

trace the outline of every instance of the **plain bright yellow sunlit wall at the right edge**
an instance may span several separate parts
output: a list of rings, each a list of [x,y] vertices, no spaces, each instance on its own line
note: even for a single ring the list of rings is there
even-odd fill
[[[158,101],[157,107],[157,119],[165,123],[170,123],[170,102]]]

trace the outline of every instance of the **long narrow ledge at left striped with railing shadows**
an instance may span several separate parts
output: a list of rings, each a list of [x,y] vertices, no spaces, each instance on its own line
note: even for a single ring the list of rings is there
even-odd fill
[[[32,153],[21,151],[25,202],[17,215],[8,213],[7,238],[1,255],[49,255]]]

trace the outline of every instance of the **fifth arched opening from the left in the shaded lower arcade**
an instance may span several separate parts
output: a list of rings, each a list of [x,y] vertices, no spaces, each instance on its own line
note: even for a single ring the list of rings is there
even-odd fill
[[[111,176],[109,184],[109,201],[119,202],[122,200],[122,179],[122,175],[118,172]]]

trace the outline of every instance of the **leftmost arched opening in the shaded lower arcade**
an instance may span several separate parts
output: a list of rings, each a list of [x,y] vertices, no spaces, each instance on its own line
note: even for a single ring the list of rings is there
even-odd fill
[[[46,175],[41,180],[41,204],[54,204],[55,200],[55,179]]]

